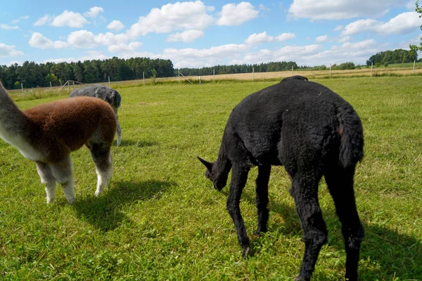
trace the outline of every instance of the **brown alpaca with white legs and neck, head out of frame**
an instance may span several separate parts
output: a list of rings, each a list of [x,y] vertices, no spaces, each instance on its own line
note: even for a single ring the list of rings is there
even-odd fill
[[[58,100],[20,111],[0,83],[0,137],[35,162],[47,203],[54,200],[56,182],[69,204],[75,202],[70,152],[82,145],[91,150],[96,165],[99,195],[113,175],[110,147],[116,118],[108,103],[98,98]]]

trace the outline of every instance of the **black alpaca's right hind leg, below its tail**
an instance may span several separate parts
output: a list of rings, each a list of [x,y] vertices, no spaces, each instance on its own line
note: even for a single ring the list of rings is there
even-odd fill
[[[364,228],[357,214],[353,191],[354,167],[335,167],[325,174],[328,190],[333,197],[338,218],[342,223],[346,251],[346,279],[357,280],[359,251],[364,239]]]

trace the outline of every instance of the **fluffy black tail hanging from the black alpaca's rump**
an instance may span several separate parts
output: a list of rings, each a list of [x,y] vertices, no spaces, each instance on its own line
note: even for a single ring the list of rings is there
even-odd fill
[[[340,107],[338,112],[340,126],[339,162],[343,167],[354,166],[364,157],[364,131],[359,116],[351,105]]]

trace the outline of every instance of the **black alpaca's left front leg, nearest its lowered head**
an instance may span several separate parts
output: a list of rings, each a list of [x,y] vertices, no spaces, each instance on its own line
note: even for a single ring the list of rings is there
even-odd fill
[[[234,226],[236,226],[238,241],[243,248],[243,258],[248,256],[250,253],[250,244],[239,204],[241,202],[243,188],[245,187],[248,179],[249,169],[249,167],[234,164],[231,171],[229,197],[227,198],[227,210],[229,211],[231,219],[233,219]]]

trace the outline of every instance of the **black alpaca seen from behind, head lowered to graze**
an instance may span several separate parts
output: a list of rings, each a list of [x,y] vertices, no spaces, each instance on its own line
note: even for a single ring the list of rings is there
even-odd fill
[[[216,190],[226,185],[231,170],[227,209],[236,226],[243,256],[250,242],[239,202],[252,166],[256,179],[257,230],[267,231],[268,181],[271,165],[283,165],[291,180],[290,195],[304,233],[305,254],[297,280],[310,280],[326,223],[318,202],[318,183],[325,177],[342,223],[348,280],[357,280],[364,228],[354,200],[354,169],[362,157],[362,124],[352,106],[330,89],[303,79],[286,79],[252,93],[234,107],[224,129],[215,162],[200,161]]]

